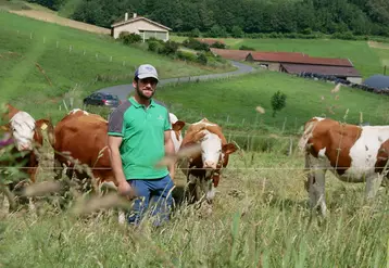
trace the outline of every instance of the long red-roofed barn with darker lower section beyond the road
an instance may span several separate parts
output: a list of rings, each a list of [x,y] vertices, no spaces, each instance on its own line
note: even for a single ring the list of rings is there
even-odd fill
[[[303,53],[288,52],[251,52],[246,61],[288,74],[312,73],[335,76],[353,84],[362,82],[362,76],[348,59],[313,58]]]

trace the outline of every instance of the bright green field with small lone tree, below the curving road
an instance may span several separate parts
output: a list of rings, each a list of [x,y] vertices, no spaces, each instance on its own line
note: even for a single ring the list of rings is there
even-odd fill
[[[170,104],[171,111],[190,123],[203,116],[227,128],[298,132],[312,116],[327,116],[359,124],[389,123],[388,98],[341,87],[331,93],[332,84],[314,81],[281,73],[260,72],[228,80],[165,86],[156,98]],[[286,93],[287,105],[272,117],[271,98]],[[255,107],[265,109],[259,114]],[[360,117],[362,113],[362,118]]]

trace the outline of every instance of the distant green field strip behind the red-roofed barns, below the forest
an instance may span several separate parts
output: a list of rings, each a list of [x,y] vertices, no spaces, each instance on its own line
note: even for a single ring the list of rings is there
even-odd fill
[[[172,36],[173,40],[184,41],[187,37]],[[303,52],[311,56],[347,58],[352,61],[363,78],[382,74],[382,66],[389,55],[380,49],[371,48],[366,41],[337,39],[235,39],[221,38],[230,49],[244,44],[259,51]],[[387,64],[388,65],[388,64]]]

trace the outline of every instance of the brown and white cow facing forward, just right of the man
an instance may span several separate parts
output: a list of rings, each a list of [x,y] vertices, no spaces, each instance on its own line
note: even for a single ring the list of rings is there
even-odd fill
[[[212,202],[222,169],[228,165],[229,154],[237,148],[227,143],[222,127],[206,118],[189,125],[181,149],[196,143],[200,143],[201,152],[179,163],[189,183],[189,203],[200,201],[203,194]]]

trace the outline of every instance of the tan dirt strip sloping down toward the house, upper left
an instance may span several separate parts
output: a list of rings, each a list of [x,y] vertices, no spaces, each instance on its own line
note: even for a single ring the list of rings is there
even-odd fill
[[[97,33],[97,34],[105,34],[105,35],[111,34],[111,30],[108,29],[108,28],[98,27],[98,26],[87,24],[87,23],[76,22],[76,21],[73,21],[73,20],[70,20],[70,18],[58,16],[54,13],[49,13],[49,12],[45,12],[45,11],[38,11],[38,10],[15,11],[15,10],[11,10],[10,12],[15,13],[17,15],[28,16],[28,17],[33,17],[33,18],[43,21],[43,22],[48,22],[48,23],[55,23],[55,24],[68,26],[68,27],[76,28],[76,29],[87,30],[87,31]]]

